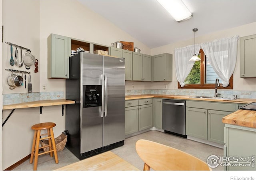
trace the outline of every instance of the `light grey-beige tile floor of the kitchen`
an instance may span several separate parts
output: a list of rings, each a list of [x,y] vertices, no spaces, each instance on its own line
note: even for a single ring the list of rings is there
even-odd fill
[[[126,138],[124,141],[124,146],[115,148],[111,151],[123,158],[124,160],[130,162],[130,164],[136,166],[138,169],[143,170],[144,162],[140,159],[135,150],[135,143],[139,139],[152,140],[161,144],[165,144],[167,146],[177,148],[179,150],[192,154],[205,162],[210,155],[223,156],[223,149],[221,148],[216,148],[214,146],[202,144],[200,142],[180,138],[178,136],[166,134],[159,131],[148,131],[137,136]],[[58,152],[58,159],[59,163],[55,164],[54,158],[46,155],[39,156],[37,170],[55,170],[62,166],[66,166],[68,164],[79,161],[79,159],[76,158],[76,156],[74,156],[67,148],[64,148],[63,151]],[[30,164],[29,160],[26,160],[26,162],[14,168],[14,170],[33,170],[33,164]],[[219,166],[212,170],[223,170],[223,167]]]

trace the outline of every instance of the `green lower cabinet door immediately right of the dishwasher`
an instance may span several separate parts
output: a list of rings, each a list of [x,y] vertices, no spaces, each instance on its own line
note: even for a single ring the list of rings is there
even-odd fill
[[[186,108],[186,135],[207,140],[207,110]]]

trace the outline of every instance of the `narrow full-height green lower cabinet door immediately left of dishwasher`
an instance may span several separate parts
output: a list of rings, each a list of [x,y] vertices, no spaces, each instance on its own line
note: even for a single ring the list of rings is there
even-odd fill
[[[154,126],[162,129],[162,98],[154,98]]]

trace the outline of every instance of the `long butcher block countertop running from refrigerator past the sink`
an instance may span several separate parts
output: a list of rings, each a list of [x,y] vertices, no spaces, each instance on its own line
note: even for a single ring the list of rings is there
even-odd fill
[[[200,101],[212,101],[212,102],[231,102],[237,104],[249,104],[256,102],[256,99],[243,99],[238,98],[236,100],[221,100],[211,98],[192,98],[192,96],[177,96],[177,95],[163,95],[163,94],[142,94],[142,95],[129,95],[125,96],[125,100],[134,100],[142,98],[167,98],[167,99],[182,99],[182,100],[200,100]]]

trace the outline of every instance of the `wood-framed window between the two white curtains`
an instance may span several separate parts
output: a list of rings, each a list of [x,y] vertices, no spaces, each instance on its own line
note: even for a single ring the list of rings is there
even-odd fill
[[[198,57],[201,61],[196,61],[188,77],[184,81],[185,86],[183,88],[190,89],[210,89],[215,88],[215,80],[219,78],[220,84],[222,80],[218,75],[214,72],[208,58],[205,56],[204,51],[200,49]],[[178,82],[178,88],[180,84]],[[218,89],[233,89],[233,75],[230,77],[229,85],[227,87],[218,87]]]

